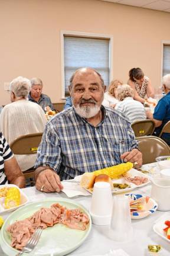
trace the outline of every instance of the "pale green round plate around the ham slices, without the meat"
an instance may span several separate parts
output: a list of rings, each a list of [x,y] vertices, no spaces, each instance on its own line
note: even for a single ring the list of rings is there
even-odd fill
[[[27,204],[15,212],[13,212],[4,222],[4,225],[1,229],[0,236],[0,245],[2,250],[6,255],[14,256],[17,254],[17,249],[11,247],[11,236],[6,231],[6,228],[14,223],[16,220],[22,220],[33,213],[40,210],[41,207],[50,207],[54,203],[60,203],[63,206],[66,206],[68,209],[81,209],[82,212],[86,213],[89,216],[90,222],[85,231],[71,229],[63,224],[56,224],[53,227],[48,227],[42,231],[42,235],[40,241],[38,241],[35,249],[29,253],[31,255],[43,255],[43,256],[62,256],[74,251],[77,247],[79,247],[87,236],[90,233],[91,229],[91,217],[86,209],[78,203],[75,203],[70,199],[61,199],[61,198],[51,198],[45,199],[41,201],[36,201],[34,203]],[[27,255],[27,253],[23,254]]]

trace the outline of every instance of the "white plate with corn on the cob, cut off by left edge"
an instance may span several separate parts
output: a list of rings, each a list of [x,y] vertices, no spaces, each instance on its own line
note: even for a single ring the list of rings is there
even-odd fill
[[[28,203],[28,197],[17,185],[0,185],[0,213],[12,212]]]

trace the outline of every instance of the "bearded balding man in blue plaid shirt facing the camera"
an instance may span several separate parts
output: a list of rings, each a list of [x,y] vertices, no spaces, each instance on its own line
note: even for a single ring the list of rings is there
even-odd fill
[[[35,163],[38,190],[59,192],[60,179],[120,164],[142,165],[128,119],[102,106],[105,86],[94,69],[78,69],[70,79],[73,107],[48,121]]]

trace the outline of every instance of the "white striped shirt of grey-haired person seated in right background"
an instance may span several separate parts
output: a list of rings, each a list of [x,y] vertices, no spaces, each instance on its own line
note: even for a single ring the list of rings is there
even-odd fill
[[[126,116],[131,123],[136,120],[146,119],[145,107],[139,101],[127,97],[116,104],[115,109]]]

